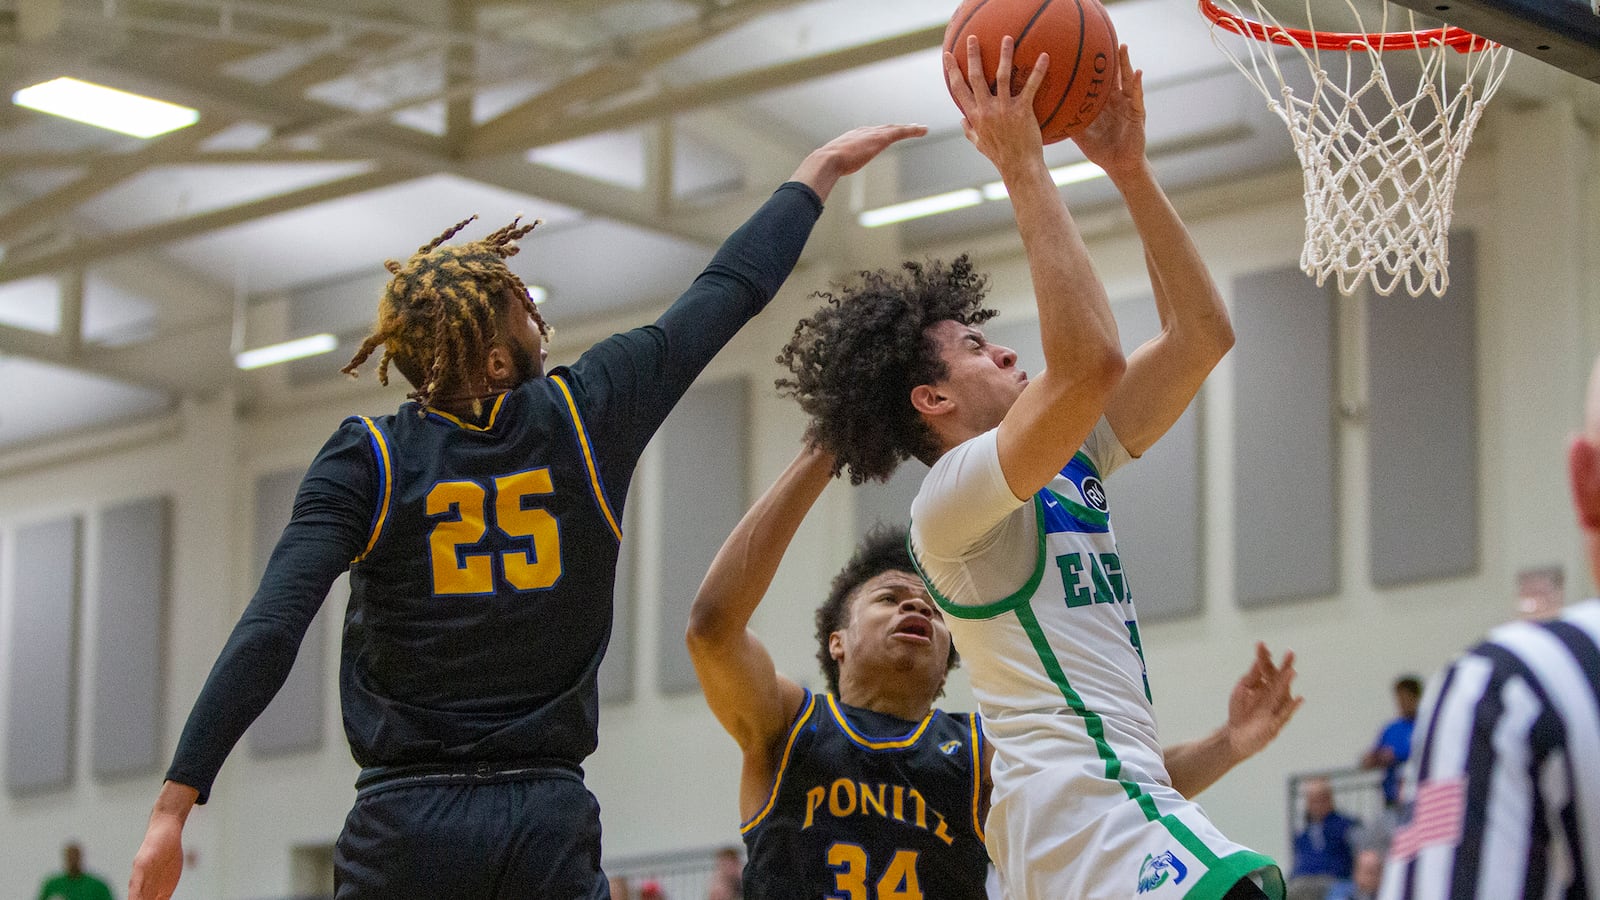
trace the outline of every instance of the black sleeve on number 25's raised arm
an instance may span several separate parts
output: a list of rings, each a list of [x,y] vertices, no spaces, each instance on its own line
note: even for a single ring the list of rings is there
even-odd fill
[[[606,338],[573,364],[584,416],[610,461],[632,469],[706,364],[782,287],[821,215],[810,186],[782,184],[661,319]]]

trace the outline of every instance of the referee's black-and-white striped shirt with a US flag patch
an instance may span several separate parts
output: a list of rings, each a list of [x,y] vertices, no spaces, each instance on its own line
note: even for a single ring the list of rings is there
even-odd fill
[[[1600,599],[1432,681],[1381,900],[1600,897]]]

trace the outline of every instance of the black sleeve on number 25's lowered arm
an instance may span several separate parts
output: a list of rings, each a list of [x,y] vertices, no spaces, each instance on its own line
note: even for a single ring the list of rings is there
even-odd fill
[[[378,471],[357,428],[339,429],[312,461],[261,586],[184,724],[166,778],[200,791],[200,802],[245,729],[283,687],[333,581],[366,546]]]

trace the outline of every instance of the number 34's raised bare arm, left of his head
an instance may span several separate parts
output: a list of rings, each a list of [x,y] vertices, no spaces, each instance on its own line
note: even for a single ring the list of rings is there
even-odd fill
[[[746,775],[757,790],[771,785],[781,751],[774,745],[805,692],[778,674],[747,626],[832,468],[830,453],[802,450],[723,541],[690,609],[686,641],[706,703],[744,749]]]

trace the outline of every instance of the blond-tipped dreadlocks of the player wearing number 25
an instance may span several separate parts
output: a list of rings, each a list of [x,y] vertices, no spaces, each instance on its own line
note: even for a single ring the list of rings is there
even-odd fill
[[[477,218],[467,216],[445,229],[405,264],[384,261],[384,269],[394,277],[378,301],[378,328],[339,372],[354,378],[373,351],[382,346],[378,383],[389,384],[389,364],[394,362],[414,388],[406,397],[426,408],[442,389],[472,384],[499,338],[499,317],[512,309],[517,298],[522,309],[533,315],[539,335],[549,338],[550,328],[528,296],[528,287],[506,267],[506,259],[520,250],[517,239],[531,232],[539,219],[520,224],[522,216],[517,216],[488,237],[445,247]],[[480,412],[477,404],[474,400],[475,412]]]

